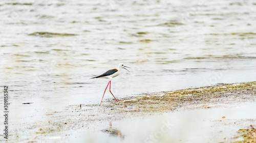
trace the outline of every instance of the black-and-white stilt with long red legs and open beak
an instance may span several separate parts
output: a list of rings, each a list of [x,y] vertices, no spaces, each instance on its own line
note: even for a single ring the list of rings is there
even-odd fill
[[[108,85],[106,85],[106,89],[108,88],[108,86],[109,86],[109,84],[110,84],[110,93],[113,95],[113,93],[111,92],[111,79],[112,79],[113,77],[118,76],[118,75],[120,74],[120,72],[121,72],[121,69],[127,70],[126,68],[130,68],[130,67],[124,66],[124,65],[121,63],[121,64],[118,65],[118,68],[117,68],[117,69],[108,70],[108,71],[106,71],[105,73],[103,73],[103,74],[101,74],[101,75],[99,75],[99,76],[92,77],[92,78],[108,78],[108,79],[109,79],[109,83],[108,83]],[[127,71],[129,71],[129,70],[127,70]],[[130,72],[130,71],[129,71],[129,72]],[[91,79],[92,79],[92,78],[91,78]],[[104,93],[103,93],[102,99],[101,99],[101,101],[100,101],[100,105],[101,105],[101,102],[102,102],[102,100],[103,100],[103,97],[104,97],[104,94],[105,94],[105,92],[106,92],[106,89],[105,89],[105,91],[104,91]],[[113,97],[115,98],[114,95],[113,95]],[[115,98],[115,99],[116,99],[116,98]],[[118,101],[116,100],[116,102],[118,102]]]

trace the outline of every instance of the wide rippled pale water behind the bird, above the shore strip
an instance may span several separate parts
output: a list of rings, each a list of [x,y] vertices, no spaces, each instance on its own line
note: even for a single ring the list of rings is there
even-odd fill
[[[119,63],[132,69],[112,80],[117,99],[256,80],[254,1],[1,1],[0,15],[17,118],[98,104],[108,80],[89,78]]]

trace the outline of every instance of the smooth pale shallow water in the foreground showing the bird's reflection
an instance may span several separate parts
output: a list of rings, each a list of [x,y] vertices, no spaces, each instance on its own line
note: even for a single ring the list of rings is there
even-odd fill
[[[200,105],[199,105],[200,106]],[[255,103],[191,109],[131,121],[98,122],[90,129],[47,138],[66,142],[234,142],[243,140],[239,129],[255,123]],[[225,116],[225,118],[223,118]],[[110,121],[111,122],[111,121]],[[112,128],[112,129],[111,129]],[[104,132],[113,131],[116,134]],[[66,134],[69,134],[68,137]]]

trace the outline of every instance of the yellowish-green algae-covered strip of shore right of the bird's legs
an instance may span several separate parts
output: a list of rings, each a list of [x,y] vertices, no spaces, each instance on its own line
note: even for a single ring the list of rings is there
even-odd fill
[[[103,106],[118,106],[119,111],[125,110],[128,112],[161,112],[178,108],[192,108],[195,104],[202,105],[198,108],[211,108],[212,104],[225,105],[237,99],[240,101],[255,101],[256,81],[141,94],[135,97],[122,98],[117,103]],[[111,100],[107,101],[111,102]]]

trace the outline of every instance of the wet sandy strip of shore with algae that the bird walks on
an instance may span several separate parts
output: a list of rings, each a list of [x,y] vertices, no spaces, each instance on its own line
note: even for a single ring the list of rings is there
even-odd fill
[[[186,110],[236,107],[241,103],[255,104],[256,81],[141,94],[118,100],[119,102],[116,102],[114,99],[104,99],[102,105],[70,105],[63,108],[62,111],[51,111],[47,112],[46,115],[41,115],[41,120],[34,122],[33,124],[30,124],[29,122],[24,122],[22,124],[12,123],[13,125],[11,126],[14,126],[15,129],[10,131],[10,138],[8,141],[72,142],[77,138],[78,141],[84,141],[84,137],[76,135],[83,131],[94,132],[96,134],[109,134],[112,138],[124,138],[124,135],[119,132],[120,130],[114,127],[112,128],[115,123],[125,121],[130,122],[137,119],[143,121],[144,118],[146,119],[154,116],[161,116],[164,113],[182,112]],[[251,110],[253,112],[255,108]],[[220,117],[220,121],[225,120],[225,118],[226,117]],[[231,120],[229,121],[233,122]],[[256,119],[243,119],[242,117],[241,120],[237,122],[243,123],[239,126],[240,129],[249,129],[250,124],[255,123],[255,121]],[[112,124],[112,126],[110,124]],[[256,124],[252,126],[255,125]],[[226,128],[225,125],[216,124],[216,126]],[[229,128],[232,128],[231,126],[233,125],[229,125]],[[230,140],[236,140],[236,138],[239,137],[241,140],[241,137],[243,136],[240,133],[232,136],[230,136],[230,134],[227,135],[228,136],[223,138],[224,142],[230,142]],[[86,136],[86,134],[83,134],[83,136]],[[251,136],[253,136],[253,134]],[[79,138],[81,140],[79,140]],[[93,136],[91,136],[91,139],[92,138]],[[228,138],[229,141],[225,141],[226,138]],[[122,139],[120,139],[120,141],[122,141]],[[101,141],[87,140],[87,142]]]

